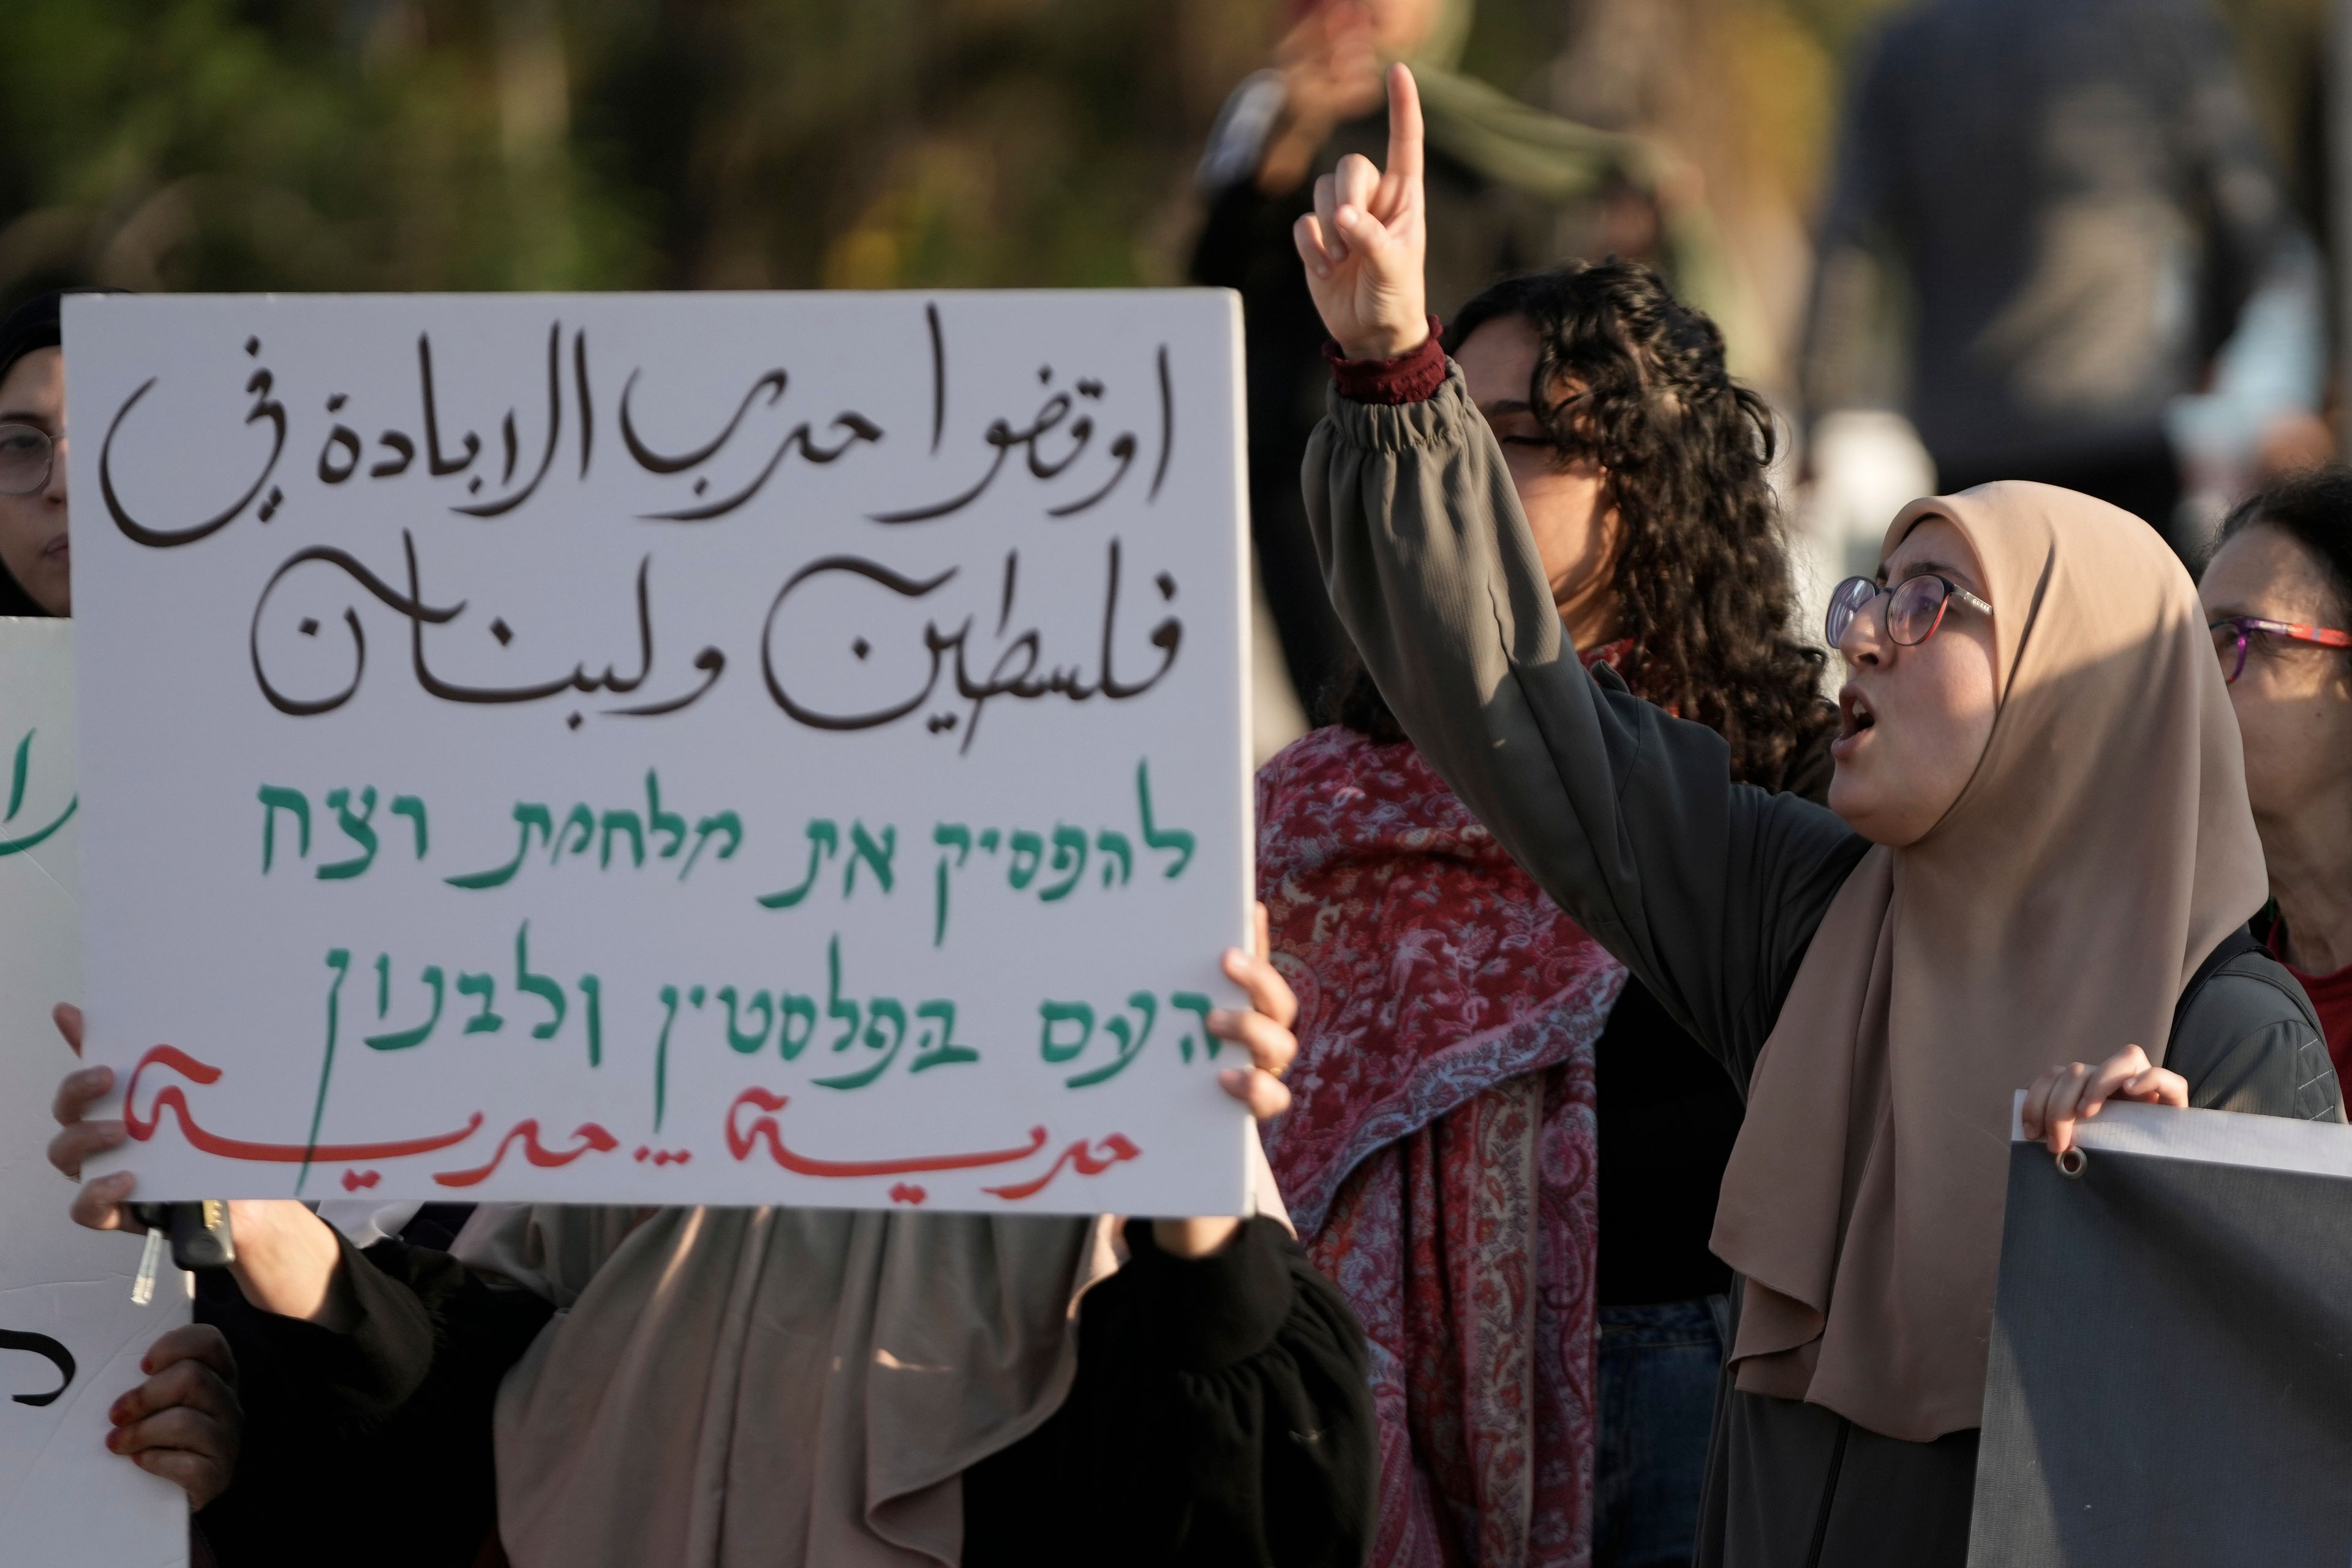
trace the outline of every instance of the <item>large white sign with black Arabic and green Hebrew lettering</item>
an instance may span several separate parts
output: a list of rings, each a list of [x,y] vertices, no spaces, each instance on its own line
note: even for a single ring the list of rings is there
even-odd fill
[[[66,306],[148,1197],[1237,1213],[1216,292]]]

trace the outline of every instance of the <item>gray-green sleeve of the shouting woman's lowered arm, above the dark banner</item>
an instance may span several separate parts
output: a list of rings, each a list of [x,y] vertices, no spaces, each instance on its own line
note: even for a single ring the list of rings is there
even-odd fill
[[[2213,971],[2164,1058],[2190,1081],[2190,1105],[2296,1121],[2345,1119],[2319,1018],[2291,985],[2265,954]]]

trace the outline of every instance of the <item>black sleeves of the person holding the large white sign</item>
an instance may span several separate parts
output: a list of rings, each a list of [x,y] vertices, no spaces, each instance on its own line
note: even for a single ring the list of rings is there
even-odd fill
[[[1362,1563],[1378,1462],[1345,1300],[1263,1218],[1202,1260],[1143,1220],[1127,1246],[1061,1410],[964,1472],[964,1568]],[[405,1241],[346,1241],[343,1269],[350,1333],[240,1316],[245,1455],[200,1526],[221,1568],[473,1568],[492,1401],[550,1307]]]

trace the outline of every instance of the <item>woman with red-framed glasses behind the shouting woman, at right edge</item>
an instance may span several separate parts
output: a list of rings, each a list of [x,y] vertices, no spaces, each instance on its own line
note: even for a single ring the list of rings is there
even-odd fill
[[[2199,597],[2246,743],[2270,907],[2256,936],[2303,983],[2352,1072],[2352,468],[2256,491]]]

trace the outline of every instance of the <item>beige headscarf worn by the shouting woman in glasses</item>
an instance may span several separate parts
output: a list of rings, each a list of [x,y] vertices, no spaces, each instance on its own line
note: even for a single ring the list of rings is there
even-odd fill
[[[1915,501],[1985,569],[1999,715],[1950,813],[1806,950],[1724,1173],[1738,1387],[1886,1436],[1976,1427],[2013,1091],[2140,1044],[2265,891],[2237,717],[2157,534],[2046,484]]]

